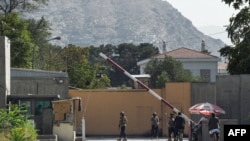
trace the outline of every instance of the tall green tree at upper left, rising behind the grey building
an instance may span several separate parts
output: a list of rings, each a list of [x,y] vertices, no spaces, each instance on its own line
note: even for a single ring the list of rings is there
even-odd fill
[[[8,0],[0,2],[1,35],[11,41],[11,66],[17,68],[39,68],[48,66],[44,48],[50,35],[48,22],[42,17],[25,20],[20,14],[47,5],[48,0]],[[45,46],[45,47],[44,47]],[[39,53],[38,53],[39,51]],[[45,56],[45,57],[44,57]],[[47,59],[48,60],[48,59]]]

